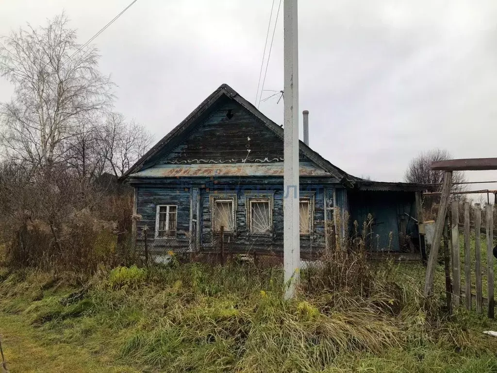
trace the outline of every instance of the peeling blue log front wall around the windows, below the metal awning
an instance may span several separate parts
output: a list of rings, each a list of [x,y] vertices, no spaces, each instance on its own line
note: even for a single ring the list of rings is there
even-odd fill
[[[257,180],[260,179],[260,180]],[[304,179],[302,178],[300,187],[301,197],[313,198],[312,221],[313,232],[310,235],[301,235],[301,250],[305,253],[312,254],[320,251],[325,245],[325,190],[328,205],[333,206],[333,189],[335,183],[323,183],[323,180]],[[195,233],[190,231],[192,225],[195,225],[193,211],[196,210],[196,203],[199,204],[198,221],[198,247],[200,250],[210,251],[218,250],[219,237],[212,229],[212,206],[211,195],[222,196],[236,195],[236,233],[227,234],[224,240],[225,250],[234,252],[244,252],[249,250],[257,251],[282,251],[283,250],[283,180],[280,177],[250,178],[251,182],[240,180],[240,178],[167,178],[150,180],[147,184],[136,184],[137,188],[137,213],[141,219],[137,222],[137,230],[143,232],[144,226],[148,227],[149,247],[157,250],[171,249],[188,249],[191,246],[191,240],[195,240]],[[328,178],[330,180],[330,178]],[[332,180],[332,179],[331,179]],[[194,200],[192,190],[198,190],[198,201]],[[343,189],[340,189],[343,190]],[[271,195],[273,198],[272,210],[272,232],[270,235],[251,234],[247,224],[247,206],[246,195]],[[342,195],[338,193],[339,195]],[[344,193],[343,193],[344,194]],[[173,204],[177,205],[177,234],[175,239],[157,239],[155,240],[155,224],[157,205]],[[142,234],[138,235],[142,241]]]

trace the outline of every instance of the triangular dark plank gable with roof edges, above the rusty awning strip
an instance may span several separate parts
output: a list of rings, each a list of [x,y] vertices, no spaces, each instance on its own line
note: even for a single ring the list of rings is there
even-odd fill
[[[222,128],[219,127],[219,123],[223,123],[223,121],[229,123],[230,118],[227,115],[231,114],[238,115],[238,117],[234,116],[233,118],[236,118],[237,121],[235,122],[238,123],[234,125],[240,125],[241,133],[239,133],[236,140],[237,146],[241,149],[236,151],[236,147],[230,147],[230,138],[224,139],[226,140],[226,146],[235,150],[235,152],[227,151],[226,157],[220,156],[223,148],[217,147],[217,149],[213,150],[211,150],[212,148],[195,148],[201,145],[197,142],[202,140],[202,136],[213,136],[216,133],[222,135],[220,132]],[[251,120],[248,120],[248,117]],[[256,120],[253,120],[254,118]],[[214,127],[209,127],[209,125]],[[203,126],[203,130],[207,132],[197,133],[197,126]],[[215,126],[218,127],[216,128]],[[261,136],[262,132],[264,133],[263,136]],[[253,133],[252,137],[250,136],[251,133]],[[124,179],[145,168],[153,167],[158,163],[190,164],[218,163],[219,161],[221,161],[219,163],[223,163],[228,160],[231,160],[232,163],[244,162],[243,160],[239,160],[239,158],[246,158],[246,162],[253,163],[281,162],[283,136],[283,128],[267,118],[231,87],[223,84],[150,149],[122,178]],[[247,140],[245,140],[246,138]],[[205,139],[203,140],[205,141]],[[247,144],[242,144],[244,141],[247,141]],[[250,152],[248,152],[248,149],[250,149]],[[302,161],[306,161],[307,158],[341,182],[350,183],[352,178],[333,166],[302,141],[299,142],[299,152],[299,158]],[[229,158],[229,156],[233,157]]]

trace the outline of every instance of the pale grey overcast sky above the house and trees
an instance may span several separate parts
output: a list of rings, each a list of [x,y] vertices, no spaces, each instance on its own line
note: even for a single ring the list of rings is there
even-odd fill
[[[84,43],[130,1],[0,0],[0,35],[65,10]],[[160,139],[222,83],[254,102],[270,9],[271,0],[138,0],[94,41],[118,85],[116,109]],[[283,89],[282,13],[267,90]],[[409,160],[434,147],[496,157],[496,20],[495,0],[300,0],[299,110],[310,111],[311,147],[381,181],[402,181]],[[11,93],[0,79],[0,101]],[[260,110],[282,123],[276,102]]]

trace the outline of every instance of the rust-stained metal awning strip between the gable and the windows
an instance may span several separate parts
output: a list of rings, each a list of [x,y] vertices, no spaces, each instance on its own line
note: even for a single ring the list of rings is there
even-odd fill
[[[315,165],[300,164],[300,176],[331,176]],[[283,176],[283,162],[271,164],[160,165],[131,174],[131,178],[175,178],[190,176]]]

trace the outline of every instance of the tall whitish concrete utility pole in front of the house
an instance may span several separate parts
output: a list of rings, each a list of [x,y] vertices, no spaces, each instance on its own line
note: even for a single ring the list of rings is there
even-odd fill
[[[284,35],[284,171],[283,250],[285,298],[295,294],[300,274],[299,235],[299,70],[297,0],[283,0]]]

